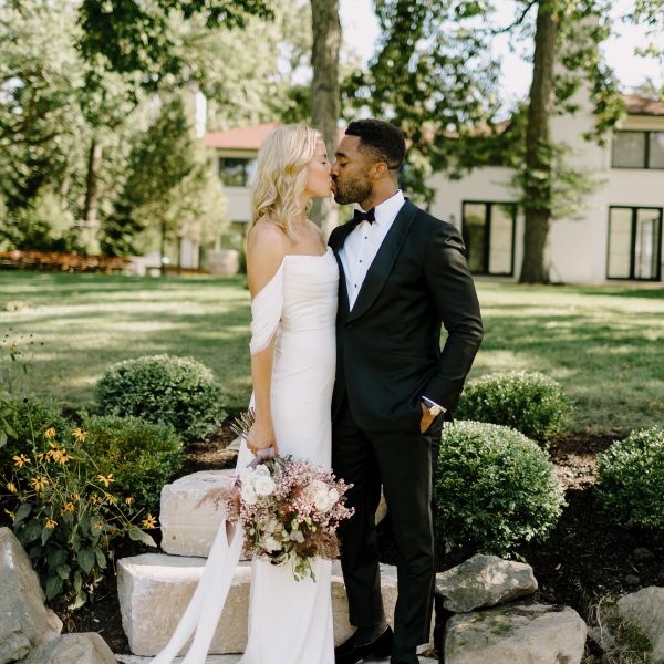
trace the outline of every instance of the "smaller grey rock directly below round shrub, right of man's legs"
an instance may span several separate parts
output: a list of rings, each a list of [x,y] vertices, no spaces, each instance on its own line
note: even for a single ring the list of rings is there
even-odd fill
[[[536,590],[537,580],[529,564],[496,556],[477,554],[436,574],[436,594],[443,596],[445,609],[456,613],[495,606]]]

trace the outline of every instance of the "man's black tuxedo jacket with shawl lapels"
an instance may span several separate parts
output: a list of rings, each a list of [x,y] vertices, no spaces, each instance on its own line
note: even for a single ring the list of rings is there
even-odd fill
[[[453,411],[483,338],[464,241],[406,200],[350,311],[339,251],[353,228],[339,226],[329,240],[341,276],[332,415],[347,396],[362,429],[418,432],[419,397]]]

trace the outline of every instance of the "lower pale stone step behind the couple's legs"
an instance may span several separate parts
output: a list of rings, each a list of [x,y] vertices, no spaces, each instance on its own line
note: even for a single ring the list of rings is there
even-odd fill
[[[132,653],[155,655],[168,642],[203,573],[205,560],[194,557],[145,553],[117,563],[117,590],[122,624]],[[396,568],[381,566],[385,613],[394,614]],[[241,562],[235,573],[211,654],[241,653],[247,644],[247,615],[251,563]],[[336,644],[353,632],[341,566],[332,566],[332,610]]]

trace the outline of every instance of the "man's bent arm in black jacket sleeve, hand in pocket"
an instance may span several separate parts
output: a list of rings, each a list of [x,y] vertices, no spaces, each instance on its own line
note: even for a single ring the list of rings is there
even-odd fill
[[[466,249],[459,231],[437,221],[424,259],[424,274],[434,304],[447,330],[436,373],[423,395],[454,409],[483,339],[481,315]]]

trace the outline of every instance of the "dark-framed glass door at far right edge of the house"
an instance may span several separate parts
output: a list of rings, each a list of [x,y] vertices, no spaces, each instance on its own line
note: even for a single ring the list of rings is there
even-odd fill
[[[658,281],[662,208],[609,208],[608,279]]]

